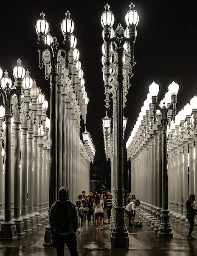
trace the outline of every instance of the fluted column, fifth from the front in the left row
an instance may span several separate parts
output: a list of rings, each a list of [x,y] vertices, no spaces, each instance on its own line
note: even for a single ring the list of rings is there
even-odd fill
[[[41,216],[38,212],[38,128],[37,122],[34,124],[34,166],[33,166],[33,180],[34,180],[34,197],[33,197],[33,213],[36,216],[37,227],[42,227]]]

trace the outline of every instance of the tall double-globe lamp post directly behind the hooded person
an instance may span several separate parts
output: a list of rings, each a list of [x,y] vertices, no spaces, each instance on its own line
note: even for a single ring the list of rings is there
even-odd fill
[[[38,52],[39,52],[39,67],[42,68],[44,64],[44,52],[48,51],[48,63],[51,65],[51,133],[50,133],[50,186],[49,186],[49,212],[51,205],[57,199],[57,192],[62,186],[62,180],[60,177],[62,175],[62,151],[57,150],[58,145],[62,143],[62,124],[59,123],[59,116],[61,116],[61,108],[58,106],[61,104],[61,101],[58,102],[59,97],[57,96],[57,89],[59,91],[59,86],[57,85],[57,77],[58,77],[58,61],[59,57],[61,57],[61,50],[65,52],[65,65],[68,69],[69,65],[69,53],[70,53],[70,36],[74,30],[74,23],[70,19],[70,13],[66,12],[66,17],[62,20],[61,29],[64,35],[63,44],[57,43],[57,39],[54,37],[51,40],[50,35],[48,34],[49,25],[45,20],[45,14],[42,12],[40,14],[41,18],[37,20],[36,23],[36,32],[38,34]],[[48,39],[45,41],[45,39]],[[48,65],[45,65],[47,68]],[[70,66],[71,67],[71,66]],[[46,72],[45,72],[46,73]],[[46,76],[48,79],[48,76]],[[61,99],[60,99],[61,100]],[[57,108],[59,109],[59,113],[57,114]],[[57,125],[59,124],[59,125]],[[46,226],[45,229],[45,241],[44,244],[47,245],[51,242],[51,233],[50,233],[50,223]]]

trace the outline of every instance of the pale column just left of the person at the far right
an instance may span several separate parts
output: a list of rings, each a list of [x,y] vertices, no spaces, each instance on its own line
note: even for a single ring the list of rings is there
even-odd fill
[[[183,140],[183,216],[180,218],[180,223],[186,221],[186,201],[188,200],[188,141]]]

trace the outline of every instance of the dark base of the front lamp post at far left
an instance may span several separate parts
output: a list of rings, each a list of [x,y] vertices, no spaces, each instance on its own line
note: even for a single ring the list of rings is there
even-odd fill
[[[16,240],[17,237],[17,228],[14,221],[11,222],[2,222],[0,230],[0,239],[1,240]]]

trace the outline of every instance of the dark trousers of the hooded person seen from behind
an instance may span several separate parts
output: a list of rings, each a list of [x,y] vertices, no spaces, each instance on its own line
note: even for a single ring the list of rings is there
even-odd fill
[[[76,234],[59,235],[56,234],[57,256],[64,256],[64,245],[67,245],[71,256],[79,256],[77,252]]]

